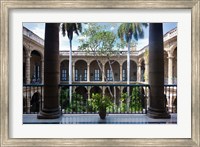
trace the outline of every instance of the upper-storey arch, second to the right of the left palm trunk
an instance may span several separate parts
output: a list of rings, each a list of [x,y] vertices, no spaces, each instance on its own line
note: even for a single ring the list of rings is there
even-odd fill
[[[100,62],[100,61],[99,61]],[[90,81],[101,81],[102,80],[102,63],[98,64],[97,60],[90,62]]]

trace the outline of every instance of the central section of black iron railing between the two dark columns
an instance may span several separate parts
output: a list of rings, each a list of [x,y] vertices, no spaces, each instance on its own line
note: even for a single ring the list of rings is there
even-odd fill
[[[72,86],[72,101],[69,87]],[[107,113],[146,113],[149,88],[142,84],[60,84],[62,113],[98,113],[90,100],[98,93],[108,97],[112,105]],[[129,89],[129,90],[128,90]],[[129,91],[129,92],[128,92]],[[129,94],[128,94],[129,93]]]

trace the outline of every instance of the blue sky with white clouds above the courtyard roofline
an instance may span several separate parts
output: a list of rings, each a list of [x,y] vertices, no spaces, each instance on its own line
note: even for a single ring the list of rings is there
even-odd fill
[[[111,31],[116,32],[117,26],[120,23],[103,23],[105,25],[108,25],[108,28],[110,28]],[[83,24],[85,25],[85,24]],[[23,23],[23,26],[31,30],[33,33],[37,34],[39,37],[44,39],[44,31],[45,31],[45,23]],[[167,33],[171,29],[177,27],[177,23],[163,23],[163,34]],[[63,37],[60,32],[60,50],[69,50],[69,41],[67,36]],[[79,39],[83,36],[74,35],[73,38],[73,50],[77,50],[79,46]],[[149,41],[149,27],[144,28],[144,38],[139,39],[137,43],[137,50],[142,49],[144,46],[148,45]]]

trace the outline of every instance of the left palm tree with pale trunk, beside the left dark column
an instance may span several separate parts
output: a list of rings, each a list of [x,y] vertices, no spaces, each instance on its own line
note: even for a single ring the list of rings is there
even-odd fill
[[[70,44],[70,51],[69,51],[69,84],[72,84],[72,39],[73,34],[76,33],[79,35],[79,32],[82,32],[82,25],[81,23],[62,23],[61,24],[62,34],[63,36],[67,36],[69,39]],[[71,103],[72,100],[72,87],[69,86],[69,102]]]

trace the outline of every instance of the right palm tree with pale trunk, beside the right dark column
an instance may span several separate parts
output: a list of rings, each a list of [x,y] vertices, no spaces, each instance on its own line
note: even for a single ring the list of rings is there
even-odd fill
[[[127,84],[130,84],[130,43],[131,40],[138,41],[139,38],[144,38],[143,27],[147,27],[147,23],[122,23],[118,28],[118,37],[122,42],[128,44],[127,52]],[[130,87],[127,87],[127,111],[129,109]]]

